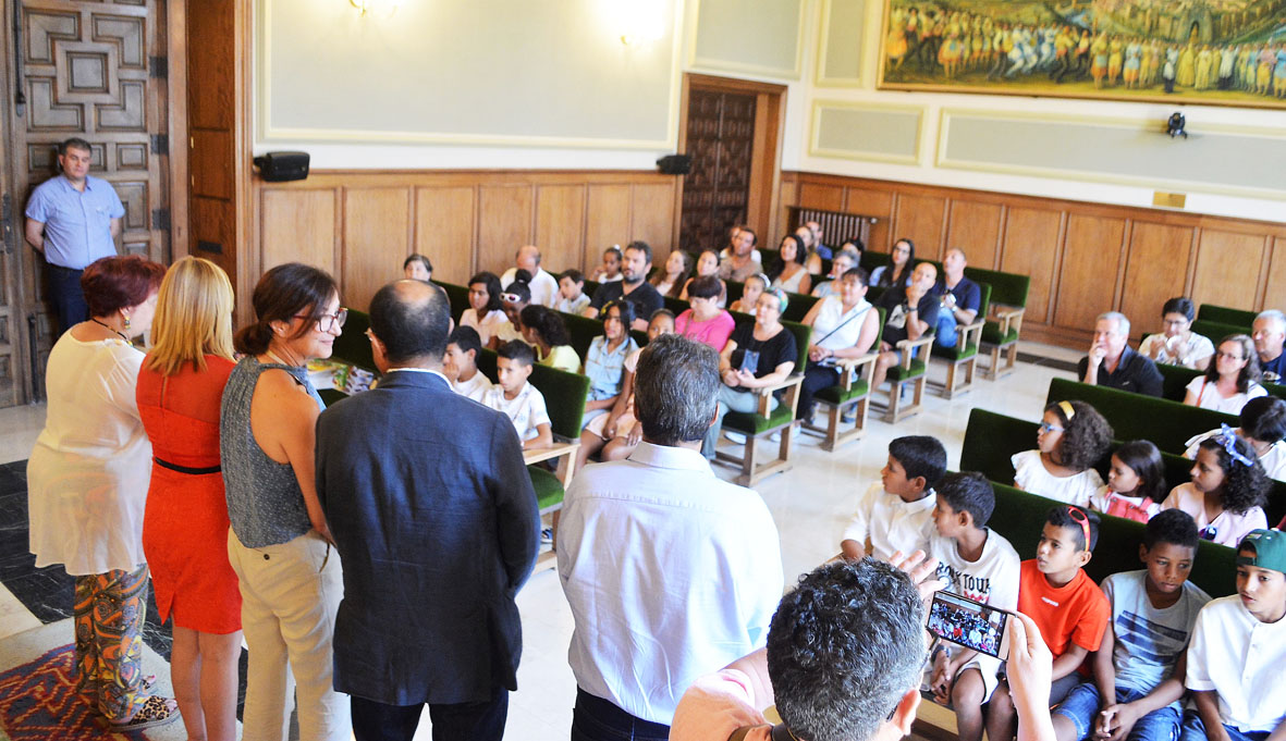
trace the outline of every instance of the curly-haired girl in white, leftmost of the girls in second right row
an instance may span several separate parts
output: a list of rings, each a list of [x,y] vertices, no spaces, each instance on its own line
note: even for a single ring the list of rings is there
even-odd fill
[[[1058,402],[1046,407],[1037,432],[1037,449],[1010,458],[1013,485],[1033,494],[1085,507],[1103,485],[1092,469],[1111,444],[1112,428],[1085,402]]]

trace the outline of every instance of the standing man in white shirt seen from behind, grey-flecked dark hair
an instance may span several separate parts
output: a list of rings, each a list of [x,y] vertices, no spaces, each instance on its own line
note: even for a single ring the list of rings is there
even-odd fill
[[[714,349],[652,340],[634,383],[643,442],[567,491],[558,574],[576,622],[572,738],[664,741],[697,677],[764,645],[782,595],[779,538],[759,494],[701,456],[719,384]]]

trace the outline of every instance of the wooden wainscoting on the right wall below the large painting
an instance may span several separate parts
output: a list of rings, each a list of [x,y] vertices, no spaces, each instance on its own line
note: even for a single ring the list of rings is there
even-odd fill
[[[1112,309],[1137,338],[1160,329],[1175,295],[1286,308],[1286,223],[810,172],[783,173],[781,194],[779,223],[791,205],[874,216],[876,250],[908,236],[917,257],[958,247],[974,266],[1030,275],[1029,339],[1082,347],[1094,317]]]

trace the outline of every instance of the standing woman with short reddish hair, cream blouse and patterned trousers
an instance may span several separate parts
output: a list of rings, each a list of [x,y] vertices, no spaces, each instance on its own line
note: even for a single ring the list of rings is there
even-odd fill
[[[174,700],[149,695],[143,673],[152,446],[135,402],[143,352],[132,339],[152,326],[163,275],[134,254],[85,268],[90,318],[49,353],[45,429],[27,461],[31,551],[37,568],[63,564],[76,578],[77,688],[113,732],[179,717]]]

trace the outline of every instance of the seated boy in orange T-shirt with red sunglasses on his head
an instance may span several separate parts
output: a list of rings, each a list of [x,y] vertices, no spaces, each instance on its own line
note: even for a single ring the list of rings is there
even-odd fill
[[[1019,611],[1035,620],[1053,654],[1051,706],[1080,683],[1078,669],[1098,650],[1111,619],[1111,604],[1083,568],[1097,543],[1098,515],[1058,505],[1046,518],[1037,557],[1019,569]],[[988,738],[1011,741],[1015,719],[1010,687],[1001,682],[988,704]]]

